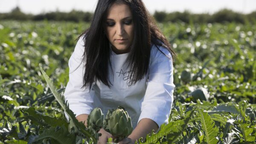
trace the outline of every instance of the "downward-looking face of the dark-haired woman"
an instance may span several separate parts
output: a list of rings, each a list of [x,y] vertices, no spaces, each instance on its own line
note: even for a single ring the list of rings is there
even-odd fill
[[[130,52],[134,37],[134,22],[129,6],[114,3],[108,10],[105,34],[116,54]]]

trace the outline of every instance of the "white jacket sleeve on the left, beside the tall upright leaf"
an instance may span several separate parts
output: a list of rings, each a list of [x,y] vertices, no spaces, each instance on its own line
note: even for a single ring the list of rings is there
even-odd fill
[[[90,114],[93,109],[92,104],[94,95],[90,95],[89,87],[81,88],[83,86],[84,76],[83,54],[84,40],[80,37],[68,62],[69,81],[64,92],[65,101],[67,101],[69,108],[76,116]],[[66,112],[65,116],[68,120],[69,118]]]

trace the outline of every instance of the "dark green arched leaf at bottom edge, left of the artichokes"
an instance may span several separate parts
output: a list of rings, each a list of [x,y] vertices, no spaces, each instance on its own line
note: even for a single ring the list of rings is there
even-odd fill
[[[32,144],[35,141],[42,140],[44,138],[52,138],[58,141],[59,144],[75,144],[76,136],[74,133],[70,134],[66,127],[63,125],[61,127],[50,127],[44,130],[40,135],[31,135],[29,137],[28,144]]]

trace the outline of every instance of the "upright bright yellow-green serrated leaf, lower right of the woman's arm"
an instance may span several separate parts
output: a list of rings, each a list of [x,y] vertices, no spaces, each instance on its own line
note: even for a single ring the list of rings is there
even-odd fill
[[[207,144],[217,144],[219,129],[215,126],[214,121],[211,119],[210,115],[207,112],[204,112],[202,109],[199,109],[199,116],[201,119],[202,129],[204,130],[204,139],[203,141]]]

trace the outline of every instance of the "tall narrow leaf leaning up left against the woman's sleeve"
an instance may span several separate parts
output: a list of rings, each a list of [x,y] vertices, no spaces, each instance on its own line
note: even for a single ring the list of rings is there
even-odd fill
[[[69,106],[67,105],[67,101],[65,103],[64,100],[64,96],[61,96],[60,93],[57,92],[56,87],[53,84],[53,81],[51,80],[51,78],[49,78],[49,76],[44,72],[41,64],[39,64],[39,67],[41,69],[41,72],[44,76],[45,81],[47,82],[49,88],[52,91],[52,94],[54,95],[54,97],[56,98],[56,100],[58,101],[58,103],[61,105],[61,107],[64,109],[64,111],[67,113],[68,117],[70,118],[70,125],[69,125],[69,130],[71,131],[72,127],[74,127],[75,132],[81,132],[84,135],[86,135],[89,138],[93,139],[93,142],[96,143],[97,139],[98,139],[98,133],[95,133],[94,136],[90,133],[90,131],[85,127],[85,125],[82,122],[79,122],[76,119],[76,116],[74,114],[74,112],[72,112],[72,110],[69,109]]]

